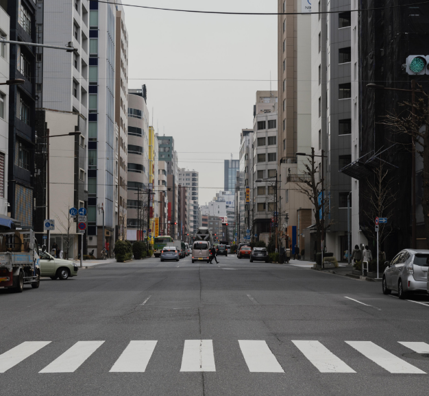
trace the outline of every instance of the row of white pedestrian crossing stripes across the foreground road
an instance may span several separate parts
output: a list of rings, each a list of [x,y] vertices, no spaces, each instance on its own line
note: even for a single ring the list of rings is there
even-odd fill
[[[266,341],[238,340],[237,343],[243,364],[247,366],[249,373],[287,373],[288,364],[291,362],[287,359],[284,360],[285,356],[287,357],[285,349],[280,351],[284,364],[282,367],[278,357],[275,356]],[[314,340],[292,340],[286,350],[293,351],[293,347],[295,347],[295,353],[299,351],[301,356],[304,356],[320,373],[357,373],[357,368],[353,367],[354,364],[357,364],[356,358],[364,358],[365,367],[368,367],[368,364],[376,364],[391,374],[426,374],[426,371],[429,371],[429,360],[428,362],[416,360],[416,364],[422,364],[421,367],[426,368],[424,371],[397,356],[402,354],[404,347],[417,354],[429,354],[429,344],[407,341],[397,343],[401,345],[400,351],[388,351],[371,341],[339,341],[338,350],[343,351],[343,348],[348,348],[347,356],[350,356],[350,362],[341,360],[323,343]],[[51,341],[25,341],[12,349],[0,351],[0,373],[12,371],[27,358],[41,349],[48,349],[53,344]],[[77,341],[46,367],[37,368],[38,373],[74,373],[80,367],[85,367],[86,360],[97,354],[98,349],[108,348],[104,344],[105,341]],[[106,371],[110,373],[145,373],[151,367],[151,360],[156,354],[158,345],[158,341],[130,341],[110,370],[107,368]],[[217,347],[220,349],[221,346],[214,343],[213,340],[185,340],[182,347],[180,372],[216,372]],[[276,348],[278,350],[278,345]],[[284,345],[280,348],[284,348]],[[299,361],[294,360],[294,364]]]

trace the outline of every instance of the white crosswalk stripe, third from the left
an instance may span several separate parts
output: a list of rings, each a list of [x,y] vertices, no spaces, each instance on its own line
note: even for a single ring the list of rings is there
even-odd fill
[[[130,341],[110,373],[144,373],[158,341]]]

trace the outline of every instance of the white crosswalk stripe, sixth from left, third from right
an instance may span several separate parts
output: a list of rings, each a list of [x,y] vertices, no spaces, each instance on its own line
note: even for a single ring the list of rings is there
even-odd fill
[[[292,341],[321,373],[356,373],[319,341]]]

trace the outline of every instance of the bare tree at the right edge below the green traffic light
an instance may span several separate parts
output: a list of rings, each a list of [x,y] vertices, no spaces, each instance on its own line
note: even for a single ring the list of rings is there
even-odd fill
[[[409,101],[400,103],[403,111],[400,114],[384,116],[382,124],[387,125],[397,134],[410,136],[411,143],[404,144],[404,147],[415,151],[423,160],[421,206],[424,214],[426,245],[429,249],[429,95],[421,90],[421,87],[415,92],[419,97],[413,103]]]

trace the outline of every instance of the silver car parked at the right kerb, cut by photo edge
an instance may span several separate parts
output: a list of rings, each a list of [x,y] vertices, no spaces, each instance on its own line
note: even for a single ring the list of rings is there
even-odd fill
[[[384,294],[394,290],[404,299],[409,293],[427,293],[429,250],[404,249],[388,264],[382,279]]]

